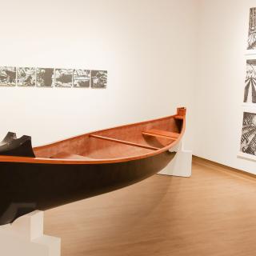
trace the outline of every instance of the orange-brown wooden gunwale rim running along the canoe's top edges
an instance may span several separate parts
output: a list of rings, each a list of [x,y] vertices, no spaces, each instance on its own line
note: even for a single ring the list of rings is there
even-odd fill
[[[78,136],[74,136],[72,138],[66,138],[64,140],[58,141],[58,142],[53,142],[44,146],[37,146],[34,147],[34,150],[38,150],[38,149],[43,149],[46,148],[48,146],[54,146],[55,144],[58,144],[59,142],[66,142],[66,141],[71,141],[77,138],[81,138],[82,136],[86,136],[90,134],[94,134],[94,133],[98,133],[101,131],[107,131],[107,130],[114,130],[114,129],[118,129],[121,127],[129,127],[129,126],[134,126],[134,125],[142,125],[142,124],[146,124],[149,122],[153,122],[153,121],[160,121],[160,120],[164,120],[167,118],[175,118],[176,116],[178,116],[178,114],[174,114],[171,116],[167,116],[164,118],[157,118],[157,119],[152,119],[149,121],[145,121],[145,122],[137,122],[137,123],[132,123],[132,124],[128,124],[125,126],[116,126],[113,128],[109,128],[109,129],[105,129],[105,130],[97,130],[97,131],[93,131],[87,134],[81,134]],[[167,146],[162,147],[159,150],[152,150],[152,152],[150,153],[146,153],[146,154],[141,154],[138,156],[127,156],[127,157],[122,157],[122,158],[103,158],[103,159],[92,159],[92,160],[88,160],[88,159],[64,159],[64,158],[28,158],[28,157],[17,157],[17,156],[4,156],[4,155],[0,155],[0,162],[26,162],[26,163],[42,163],[42,164],[66,164],[66,165],[89,165],[89,164],[105,164],[105,163],[114,163],[114,162],[129,162],[129,161],[133,161],[133,160],[137,160],[137,159],[142,159],[142,158],[149,158],[151,156],[157,155],[157,154],[161,154],[164,151],[168,151],[171,148],[173,148],[174,146],[176,146],[178,144],[178,142],[180,142],[180,140],[182,139],[182,136],[186,130],[186,114],[183,115],[182,118],[182,130],[179,134],[179,137],[174,140],[173,142],[171,142],[170,144],[168,144]]]

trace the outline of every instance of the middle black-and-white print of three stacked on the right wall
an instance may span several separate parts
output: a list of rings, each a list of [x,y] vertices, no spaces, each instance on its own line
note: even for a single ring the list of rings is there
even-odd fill
[[[246,86],[243,102],[256,103],[256,59],[246,61]]]

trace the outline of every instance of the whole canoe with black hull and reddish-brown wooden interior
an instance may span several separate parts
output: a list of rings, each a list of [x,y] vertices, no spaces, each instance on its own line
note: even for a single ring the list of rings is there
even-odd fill
[[[34,210],[104,194],[166,167],[185,131],[186,108],[166,117],[32,148],[30,136],[0,142],[0,225]]]

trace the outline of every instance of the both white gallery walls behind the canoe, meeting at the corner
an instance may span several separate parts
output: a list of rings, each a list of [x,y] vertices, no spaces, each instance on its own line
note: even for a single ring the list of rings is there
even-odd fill
[[[188,108],[185,146],[237,158],[252,0],[0,0],[0,66],[108,70],[106,90],[0,87],[0,136],[33,145]]]

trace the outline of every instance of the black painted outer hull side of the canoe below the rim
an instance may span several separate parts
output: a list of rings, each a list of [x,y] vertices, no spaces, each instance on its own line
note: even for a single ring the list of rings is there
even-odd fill
[[[128,162],[85,165],[0,162],[0,225],[34,210],[118,190],[162,170],[175,153]]]

